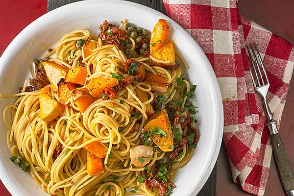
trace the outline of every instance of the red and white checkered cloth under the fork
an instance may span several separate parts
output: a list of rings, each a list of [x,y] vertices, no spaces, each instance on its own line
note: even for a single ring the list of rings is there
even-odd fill
[[[225,143],[233,180],[248,193],[264,194],[271,159],[270,133],[261,99],[254,94],[245,44],[255,42],[270,80],[267,100],[280,123],[294,67],[293,46],[241,16],[236,0],[163,0],[209,59],[221,88]]]

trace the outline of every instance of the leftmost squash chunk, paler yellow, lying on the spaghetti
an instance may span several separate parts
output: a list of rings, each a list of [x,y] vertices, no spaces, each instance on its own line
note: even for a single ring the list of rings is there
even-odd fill
[[[39,95],[39,102],[41,119],[46,122],[56,119],[64,108],[61,103],[46,94]]]

